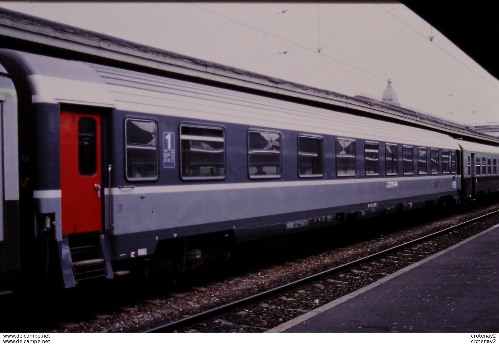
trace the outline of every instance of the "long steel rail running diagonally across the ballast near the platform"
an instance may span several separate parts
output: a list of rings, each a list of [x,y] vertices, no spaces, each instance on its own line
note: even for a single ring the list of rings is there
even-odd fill
[[[301,285],[313,282],[315,280],[321,279],[321,278],[326,277],[328,275],[331,275],[333,273],[337,273],[337,272],[339,272],[341,270],[346,270],[348,268],[351,268],[351,267],[354,267],[356,265],[362,264],[362,263],[364,263],[366,261],[369,261],[369,260],[375,259],[377,257],[383,256],[383,255],[385,255],[387,253],[400,250],[401,248],[404,248],[406,246],[410,246],[412,244],[418,243],[420,241],[424,241],[424,240],[426,240],[428,238],[437,236],[439,234],[442,234],[442,233],[445,233],[445,232],[449,232],[449,231],[451,231],[453,229],[465,226],[465,225],[467,225],[469,223],[478,221],[478,220],[480,220],[482,218],[494,215],[496,213],[499,213],[499,210],[496,210],[496,211],[493,211],[491,213],[487,213],[487,214],[481,215],[481,216],[476,217],[474,219],[471,219],[471,220],[462,222],[460,224],[457,224],[457,225],[454,225],[454,226],[442,229],[442,230],[437,231],[437,232],[432,233],[432,234],[425,235],[425,236],[423,236],[421,238],[414,239],[414,240],[408,241],[406,243],[403,243],[403,244],[400,244],[400,245],[388,248],[386,250],[373,253],[372,255],[369,255],[369,256],[366,256],[366,257],[362,257],[362,258],[356,259],[354,261],[351,261],[351,262],[348,262],[348,263],[345,263],[345,264],[338,265],[338,266],[336,266],[334,268],[331,268],[331,269],[328,269],[328,270],[325,270],[325,271],[322,271],[322,272],[319,272],[319,273],[316,273],[316,274],[313,274],[313,275],[310,275],[310,276],[307,276],[307,277],[303,277],[303,278],[301,278],[299,280],[287,283],[287,284],[282,285],[280,287],[275,287],[275,288],[269,289],[267,291],[264,291],[264,292],[261,292],[261,293],[258,293],[258,294],[254,294],[254,295],[251,295],[251,296],[248,296],[248,297],[246,297],[244,299],[233,301],[231,303],[228,303],[228,304],[225,304],[225,305],[213,308],[211,310],[207,310],[207,311],[204,311],[204,312],[201,312],[201,313],[197,313],[197,314],[194,314],[192,316],[189,316],[189,317],[186,317],[186,318],[183,318],[183,319],[174,321],[172,323],[169,323],[169,324],[166,324],[166,325],[162,325],[162,326],[159,326],[159,327],[156,327],[154,329],[147,330],[147,331],[144,331],[144,332],[173,332],[175,330],[178,330],[178,329],[181,329],[181,328],[184,328],[184,327],[196,324],[196,323],[200,323],[203,320],[206,320],[206,319],[209,319],[209,318],[213,318],[213,317],[215,317],[217,315],[221,315],[221,314],[227,313],[227,312],[229,312],[231,310],[235,310],[237,308],[243,307],[243,306],[251,304],[251,303],[255,303],[258,300],[265,299],[265,298],[268,298],[270,296],[273,296],[273,295],[276,295],[276,294],[279,294],[279,293],[283,293],[285,291],[288,291],[288,290],[296,288],[298,286],[301,286]]]

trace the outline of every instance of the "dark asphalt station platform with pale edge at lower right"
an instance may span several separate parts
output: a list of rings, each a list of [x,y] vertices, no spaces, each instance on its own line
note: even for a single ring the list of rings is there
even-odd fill
[[[499,332],[499,224],[268,332]]]

